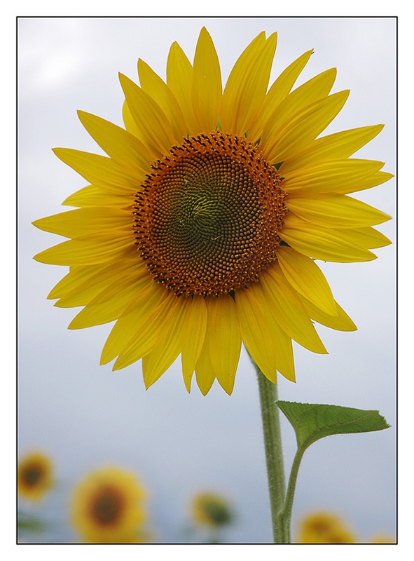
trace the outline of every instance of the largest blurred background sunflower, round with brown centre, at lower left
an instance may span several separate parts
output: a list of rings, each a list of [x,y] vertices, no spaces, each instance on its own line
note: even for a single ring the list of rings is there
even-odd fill
[[[71,496],[71,524],[87,543],[141,542],[145,497],[133,473],[112,467],[93,471]]]

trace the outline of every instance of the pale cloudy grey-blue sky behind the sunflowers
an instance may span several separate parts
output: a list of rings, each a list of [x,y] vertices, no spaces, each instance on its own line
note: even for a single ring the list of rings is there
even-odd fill
[[[163,79],[178,41],[192,60],[200,29],[212,35],[223,83],[237,56],[259,32],[278,32],[271,81],[314,49],[297,85],[336,67],[334,91],[350,89],[345,108],[323,134],[384,123],[357,154],[395,173],[395,20],[392,18],[21,18],[18,25],[18,449],[37,448],[55,463],[58,485],[41,506],[60,541],[76,539],[67,497],[89,472],[113,464],[132,470],[149,490],[158,540],[182,541],[188,502],[212,489],[228,497],[237,520],[232,543],[271,541],[257,382],[246,353],[228,396],[218,384],[203,397],[187,393],[179,360],[148,391],[140,363],[117,372],[99,366],[111,325],[67,330],[74,309],[46,296],[66,268],[32,257],[61,238],[34,219],[65,210],[64,198],[85,180],[53,155],[53,147],[101,153],[76,116],[82,109],[122,125],[118,72],[137,81],[142,58]],[[356,194],[395,216],[395,182]],[[395,241],[395,220],[378,229]],[[329,355],[294,344],[296,384],[278,378],[280,398],[379,410],[392,428],[337,435],[305,452],[293,527],[316,508],[345,518],[365,540],[395,534],[395,245],[378,259],[320,263],[357,332],[317,327]],[[282,418],[287,470],[296,449]],[[58,530],[56,529],[58,528]],[[46,536],[46,539],[50,538]]]

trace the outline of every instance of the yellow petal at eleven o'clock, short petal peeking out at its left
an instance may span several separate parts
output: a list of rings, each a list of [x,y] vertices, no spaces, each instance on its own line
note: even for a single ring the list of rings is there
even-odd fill
[[[162,158],[175,144],[174,131],[164,111],[136,83],[119,75],[128,108],[137,124],[139,140],[149,149],[153,159]]]

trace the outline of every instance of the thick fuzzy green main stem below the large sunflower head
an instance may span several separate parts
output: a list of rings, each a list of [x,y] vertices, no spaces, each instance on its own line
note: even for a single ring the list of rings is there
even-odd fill
[[[252,360],[254,363],[254,361]],[[273,540],[275,543],[289,543],[290,529],[287,522],[290,518],[280,517],[284,508],[286,487],[284,484],[284,464],[282,452],[282,435],[280,432],[279,408],[277,401],[277,386],[268,380],[258,368],[258,393],[260,396],[261,415],[263,421],[263,437],[265,443],[266,466],[268,469],[268,484],[270,511],[272,513]]]

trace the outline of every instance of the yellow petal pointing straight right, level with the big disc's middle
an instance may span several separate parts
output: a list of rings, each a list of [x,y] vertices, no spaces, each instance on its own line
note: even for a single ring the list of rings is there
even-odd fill
[[[331,228],[373,226],[391,218],[385,212],[345,195],[289,196],[284,202],[304,220]]]

